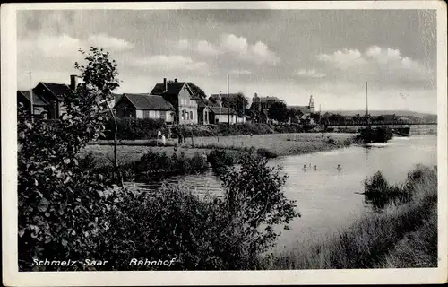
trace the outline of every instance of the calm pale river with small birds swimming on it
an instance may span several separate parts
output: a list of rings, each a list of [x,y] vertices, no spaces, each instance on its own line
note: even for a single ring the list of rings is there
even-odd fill
[[[297,201],[297,211],[302,215],[289,224],[290,230],[282,231],[276,249],[292,247],[297,241],[320,239],[355,222],[370,212],[364,196],[357,194],[363,192],[366,177],[381,170],[391,182],[402,182],[416,164],[437,164],[436,143],[436,135],[394,137],[388,143],[369,147],[350,146],[271,160],[270,165],[280,165],[281,172],[289,175],[285,194]],[[220,182],[211,173],[170,181],[181,182],[199,195],[221,193]]]

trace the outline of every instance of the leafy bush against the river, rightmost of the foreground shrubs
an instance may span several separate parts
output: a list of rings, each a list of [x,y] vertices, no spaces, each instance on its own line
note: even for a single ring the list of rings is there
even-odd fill
[[[267,159],[254,153],[246,153],[238,163],[238,170],[226,170],[220,178],[226,190],[228,224],[241,240],[237,246],[249,258],[246,264],[251,264],[274,246],[280,235],[274,225],[285,224],[289,230],[288,223],[300,213],[281,189],[288,176],[280,176],[280,167],[268,167]]]

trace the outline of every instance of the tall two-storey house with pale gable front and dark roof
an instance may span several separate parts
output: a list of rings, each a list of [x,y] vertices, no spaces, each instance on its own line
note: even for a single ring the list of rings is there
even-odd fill
[[[194,92],[187,83],[167,81],[157,83],[152,89],[151,95],[161,96],[167,100],[174,108],[173,122],[178,125],[198,124],[198,103],[195,100]],[[203,118],[204,115],[201,115]]]

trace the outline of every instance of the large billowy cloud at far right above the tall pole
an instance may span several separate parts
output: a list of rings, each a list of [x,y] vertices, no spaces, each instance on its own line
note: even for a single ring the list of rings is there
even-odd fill
[[[335,79],[435,88],[433,72],[410,57],[402,57],[399,49],[372,46],[361,53],[358,49],[344,48],[316,57],[323,64],[326,74],[332,74]]]

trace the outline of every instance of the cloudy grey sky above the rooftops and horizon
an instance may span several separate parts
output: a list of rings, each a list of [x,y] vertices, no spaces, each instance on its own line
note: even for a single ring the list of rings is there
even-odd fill
[[[430,10],[29,10],[17,13],[18,88],[69,83],[79,48],[118,64],[116,92],[163,78],[316,109],[436,113]],[[30,77],[31,72],[31,77]]]

